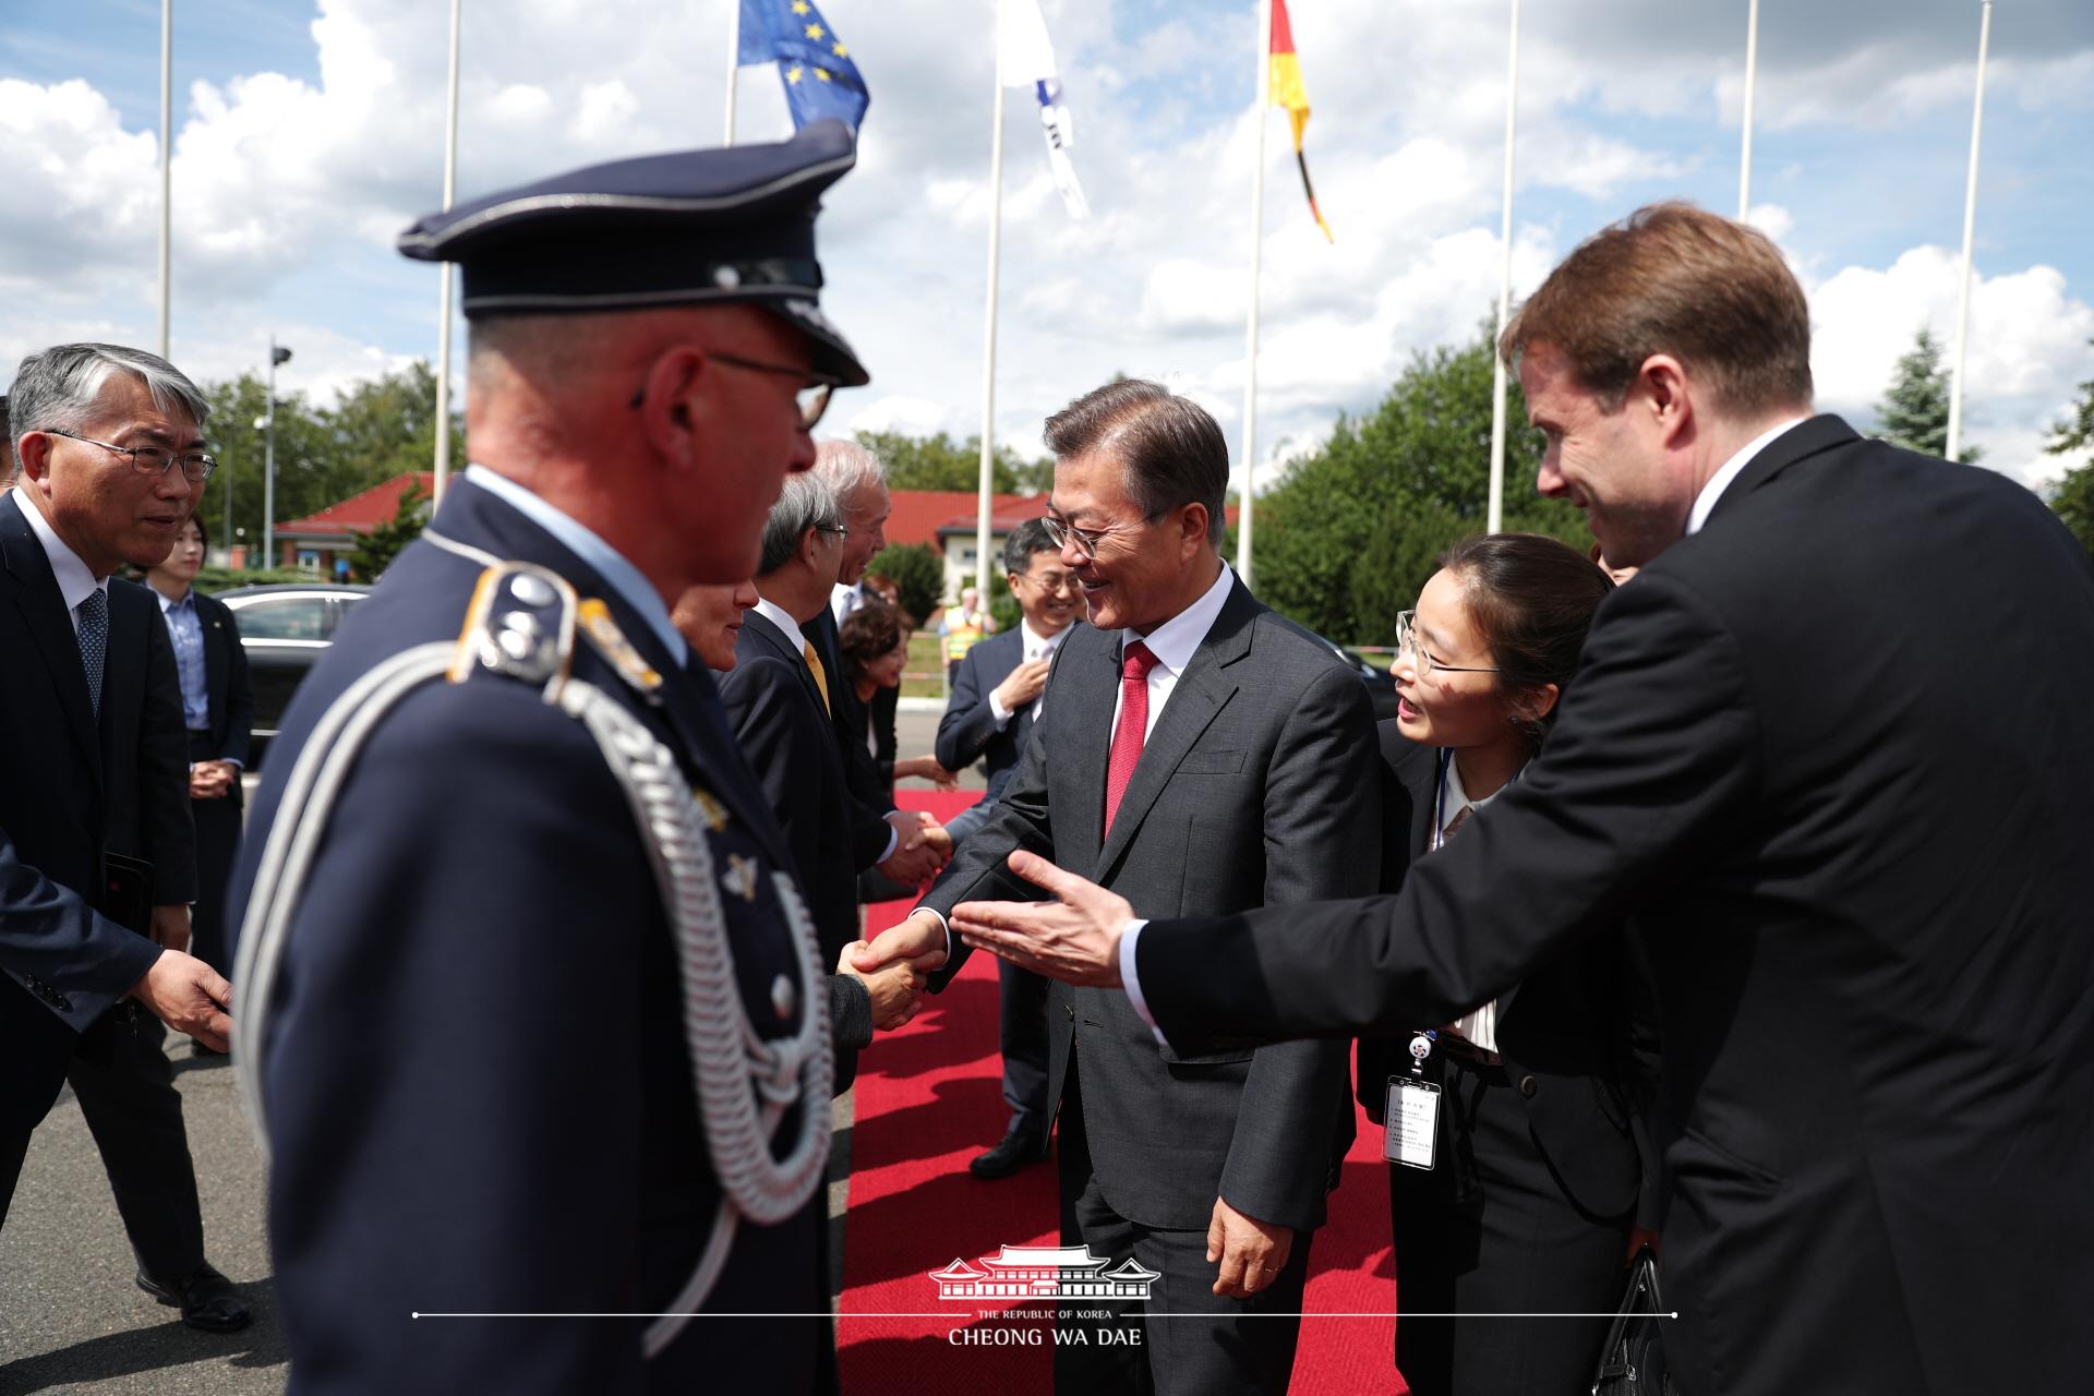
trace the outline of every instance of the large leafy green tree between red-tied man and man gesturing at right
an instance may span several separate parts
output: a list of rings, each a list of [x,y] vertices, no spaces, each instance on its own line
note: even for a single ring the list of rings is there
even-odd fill
[[[1480,534],[1491,488],[1491,333],[1416,354],[1374,412],[1338,419],[1258,500],[1261,599],[1334,640],[1388,645],[1432,559]],[[1587,546],[1583,515],[1535,494],[1541,437],[1506,398],[1508,532]]]

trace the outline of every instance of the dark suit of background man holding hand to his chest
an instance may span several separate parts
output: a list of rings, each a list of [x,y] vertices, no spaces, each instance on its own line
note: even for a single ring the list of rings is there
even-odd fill
[[[1068,634],[1066,630],[1062,632]],[[1026,655],[1024,626],[993,634],[959,661],[953,697],[938,718],[936,753],[946,770],[963,770],[976,760],[988,776],[988,804],[1018,768],[1032,739],[1032,716],[1039,703],[1020,703],[1009,720],[997,726],[988,695],[1011,676]],[[997,1046],[1003,1051],[1003,1103],[1011,1107],[1009,1132],[1045,1143],[1053,1128],[1047,1109],[1047,998],[1049,980],[1009,961],[997,961]]]

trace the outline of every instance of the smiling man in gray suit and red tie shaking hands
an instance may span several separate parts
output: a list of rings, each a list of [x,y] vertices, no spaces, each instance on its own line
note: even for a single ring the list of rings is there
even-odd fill
[[[942,965],[934,990],[967,952],[946,944],[953,906],[1032,896],[1005,871],[1018,848],[1148,917],[1359,894],[1380,869],[1367,695],[1221,561],[1229,450],[1215,419],[1120,381],[1051,416],[1047,444],[1049,530],[1091,626],[1055,655],[1055,701],[1003,804],[863,952],[861,969]],[[1057,1346],[1057,1386],[1137,1390],[1145,1363],[1158,1392],[1284,1392],[1298,1319],[1277,1314],[1300,1310],[1351,1139],[1344,1042],[1179,1055],[1124,994],[1066,986],[1047,1019],[1064,1243],[1158,1273],[1148,1310],[1177,1314],[1145,1321],[1135,1344]]]

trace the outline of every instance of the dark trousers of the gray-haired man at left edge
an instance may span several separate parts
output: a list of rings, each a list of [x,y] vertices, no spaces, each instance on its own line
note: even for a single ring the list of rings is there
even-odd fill
[[[159,1019],[130,1000],[77,1036],[27,996],[6,1005],[0,1040],[10,1051],[0,1061],[8,1063],[15,1082],[0,1107],[0,1220],[15,1197],[29,1134],[50,1113],[59,1086],[69,1082],[101,1149],[138,1266],[155,1279],[186,1279],[203,1264],[197,1172],[163,1036]]]

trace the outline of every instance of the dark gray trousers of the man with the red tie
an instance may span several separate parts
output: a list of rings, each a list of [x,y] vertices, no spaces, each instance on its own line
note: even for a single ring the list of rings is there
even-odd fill
[[[1279,1279],[1248,1300],[1212,1291],[1219,1266],[1206,1258],[1206,1229],[1164,1231],[1118,1216],[1091,1170],[1083,1128],[1083,1090],[1070,1057],[1060,1116],[1062,1243],[1089,1245],[1106,1270],[1133,1256],[1156,1270],[1141,1302],[1062,1300],[1055,1327],[1083,1329],[1089,1342],[1060,1342],[1053,1352],[1055,1392],[1066,1396],[1162,1392],[1208,1396],[1238,1392],[1282,1396],[1294,1373],[1302,1283],[1309,1277],[1313,1231],[1294,1235]],[[1108,1314],[1078,1316],[1078,1314]],[[1292,1316],[1273,1316],[1292,1314]],[[1112,1331],[1120,1342],[1101,1339]],[[1137,1342],[1124,1342],[1127,1333]]]

